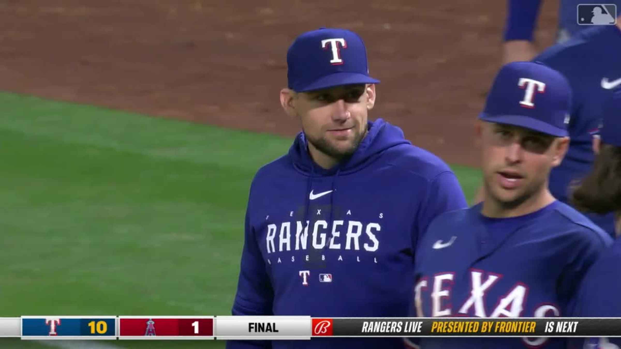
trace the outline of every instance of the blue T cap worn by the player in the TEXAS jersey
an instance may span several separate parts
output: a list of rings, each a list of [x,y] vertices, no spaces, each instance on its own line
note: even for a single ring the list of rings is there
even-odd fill
[[[571,88],[556,70],[538,62],[512,62],[496,75],[479,119],[566,137]]]

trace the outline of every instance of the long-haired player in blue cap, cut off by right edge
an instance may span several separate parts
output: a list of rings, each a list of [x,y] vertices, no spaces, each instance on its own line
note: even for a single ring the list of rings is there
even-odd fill
[[[598,153],[593,170],[573,191],[571,202],[587,212],[615,212],[617,237],[621,235],[621,89],[607,101],[604,108],[601,140],[594,139]],[[621,316],[621,239],[589,269],[582,281],[574,316]],[[579,341],[578,341],[579,342]],[[587,347],[592,342],[599,347]],[[582,348],[582,345],[576,346]],[[621,338],[587,340],[584,348],[619,349]]]

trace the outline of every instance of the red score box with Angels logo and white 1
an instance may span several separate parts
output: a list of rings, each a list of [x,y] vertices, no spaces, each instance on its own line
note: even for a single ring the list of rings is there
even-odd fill
[[[119,339],[214,339],[214,317],[120,316]]]

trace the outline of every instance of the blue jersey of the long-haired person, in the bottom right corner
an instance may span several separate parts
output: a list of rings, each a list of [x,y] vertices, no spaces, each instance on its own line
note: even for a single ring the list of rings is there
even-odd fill
[[[621,240],[615,240],[591,266],[578,292],[576,317],[620,317],[621,316]],[[589,339],[599,343],[607,341],[621,347],[621,338]],[[574,341],[580,342],[580,341]],[[574,345],[582,349],[580,345]],[[597,347],[594,347],[597,348]],[[601,347],[604,348],[604,347]],[[605,347],[612,349],[614,347]]]

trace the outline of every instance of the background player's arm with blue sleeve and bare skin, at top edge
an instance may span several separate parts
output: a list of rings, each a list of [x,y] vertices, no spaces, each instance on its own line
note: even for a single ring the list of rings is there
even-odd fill
[[[533,32],[540,5],[541,0],[507,0],[502,64],[530,61],[537,54]]]

